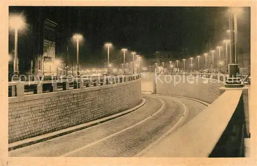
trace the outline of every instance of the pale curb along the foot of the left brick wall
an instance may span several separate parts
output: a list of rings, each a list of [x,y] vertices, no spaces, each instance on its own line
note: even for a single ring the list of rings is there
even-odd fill
[[[134,112],[134,110],[142,107],[144,104],[145,104],[145,99],[142,98],[142,101],[139,105],[137,105],[133,108],[124,110],[123,112],[120,112],[120,113],[117,113],[117,114],[114,114],[114,115],[111,115],[111,116],[108,116],[108,117],[104,117],[104,118],[101,118],[101,119],[97,119],[97,120],[94,120],[94,121],[90,121],[90,122],[87,122],[87,123],[84,123],[84,124],[68,127],[68,128],[56,131],[56,132],[47,133],[47,134],[44,134],[44,135],[41,135],[41,136],[36,136],[36,137],[28,138],[28,139],[25,139],[25,140],[9,143],[8,144],[8,151],[12,151],[12,150],[15,150],[15,149],[18,149],[18,148],[21,148],[21,147],[24,147],[24,146],[32,145],[32,144],[35,144],[35,143],[43,142],[43,141],[53,139],[53,138],[56,138],[56,137],[60,137],[60,136],[63,136],[63,135],[67,135],[67,134],[77,132],[77,131],[83,130],[85,128],[88,128],[88,127],[91,127],[91,126],[94,126],[94,125],[97,125],[97,124],[107,122],[109,120],[116,119],[116,118],[121,117],[123,115]]]

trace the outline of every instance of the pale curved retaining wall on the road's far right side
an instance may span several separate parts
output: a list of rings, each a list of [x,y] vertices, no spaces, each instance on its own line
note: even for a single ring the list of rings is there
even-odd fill
[[[156,94],[189,97],[212,103],[219,94],[224,82],[208,78],[188,76],[156,76]]]

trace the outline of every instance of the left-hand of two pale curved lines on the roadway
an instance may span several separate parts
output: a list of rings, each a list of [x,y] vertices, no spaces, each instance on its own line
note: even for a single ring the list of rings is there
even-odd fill
[[[156,113],[154,113],[152,116],[149,116],[148,118],[145,118],[144,120],[141,120],[140,122],[138,122],[138,123],[136,123],[136,124],[133,124],[133,125],[130,126],[130,127],[124,128],[123,130],[121,130],[121,131],[119,131],[119,132],[117,132],[117,133],[114,133],[114,134],[112,134],[112,135],[109,135],[109,136],[107,136],[107,137],[104,137],[104,138],[102,138],[102,139],[100,139],[100,140],[98,140],[98,141],[89,143],[89,144],[87,144],[87,145],[85,145],[85,146],[83,146],[83,147],[80,147],[79,149],[76,149],[76,150],[74,150],[74,151],[65,153],[65,154],[63,154],[63,155],[61,155],[61,156],[59,156],[59,157],[66,157],[66,156],[68,156],[68,155],[70,155],[70,154],[74,154],[74,153],[76,153],[76,152],[78,152],[78,151],[80,151],[80,150],[83,150],[83,149],[85,149],[85,148],[87,148],[87,147],[89,147],[89,146],[93,146],[93,145],[95,145],[95,144],[97,144],[97,143],[99,143],[99,142],[101,142],[101,141],[104,141],[104,140],[106,140],[106,139],[108,139],[108,138],[111,138],[111,137],[117,135],[117,134],[120,134],[120,133],[122,133],[122,132],[125,132],[126,130],[128,130],[128,129],[132,128],[132,127],[135,127],[136,125],[138,125],[138,124],[140,124],[140,123],[142,123],[142,122],[144,122],[144,121],[146,121],[146,120],[152,118],[154,115],[158,114],[158,113],[164,108],[164,105],[165,105],[165,104],[164,104],[163,100],[161,100],[161,99],[158,99],[158,98],[156,98],[156,97],[151,97],[151,98],[155,98],[155,99],[157,99],[157,100],[159,100],[159,101],[162,102],[161,108],[158,109],[158,111],[157,111]]]

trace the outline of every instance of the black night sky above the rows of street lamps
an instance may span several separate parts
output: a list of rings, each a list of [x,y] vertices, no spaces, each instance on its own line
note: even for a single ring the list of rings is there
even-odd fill
[[[10,7],[9,11],[22,12],[26,17],[28,28],[20,35],[21,43],[31,41],[36,35],[31,29],[41,14],[41,19],[50,19],[58,24],[56,29],[58,56],[65,53],[67,45],[70,54],[76,56],[71,36],[74,33],[81,33],[85,39],[80,47],[81,61],[96,63],[106,59],[106,50],[103,47],[105,42],[112,42],[115,46],[113,50],[119,51],[122,47],[126,47],[131,51],[141,52],[140,54],[145,57],[151,57],[155,51],[182,52],[183,48],[186,48],[187,54],[190,55],[202,54],[210,49],[207,43],[210,47],[215,47],[224,39],[224,31],[228,29],[227,9],[227,7]],[[240,19],[238,21],[240,22]],[[241,24],[244,26],[239,26],[238,31],[240,28],[248,28],[247,35],[249,35],[249,21],[250,17],[244,20],[245,24]],[[25,54],[26,50],[31,48],[28,43],[19,45],[20,54]]]

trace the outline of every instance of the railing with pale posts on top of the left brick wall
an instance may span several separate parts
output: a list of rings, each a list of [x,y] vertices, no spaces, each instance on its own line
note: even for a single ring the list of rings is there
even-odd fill
[[[105,77],[86,77],[83,78],[67,78],[62,80],[49,81],[17,81],[8,83],[9,97],[24,96],[32,94],[50,93],[54,91],[71,90],[79,88],[87,88],[94,86],[102,86],[109,84],[117,84],[140,79],[140,74],[121,75],[121,76],[105,76]]]

